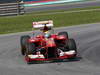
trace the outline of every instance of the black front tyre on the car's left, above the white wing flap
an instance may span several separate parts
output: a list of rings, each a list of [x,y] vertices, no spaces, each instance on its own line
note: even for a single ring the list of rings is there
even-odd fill
[[[36,54],[36,47],[34,43],[28,43],[27,42],[27,49],[26,49],[26,55],[29,54]]]

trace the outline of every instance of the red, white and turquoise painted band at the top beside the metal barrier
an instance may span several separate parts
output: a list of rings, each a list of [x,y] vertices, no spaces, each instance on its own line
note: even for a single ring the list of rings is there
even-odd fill
[[[24,6],[30,7],[30,6],[78,2],[78,1],[84,1],[84,0],[29,0],[29,1],[24,1],[25,2]]]

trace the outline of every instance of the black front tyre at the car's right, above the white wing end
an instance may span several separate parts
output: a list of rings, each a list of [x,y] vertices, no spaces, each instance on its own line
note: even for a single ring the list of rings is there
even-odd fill
[[[76,47],[76,43],[75,43],[75,40],[74,39],[69,39],[68,40],[68,43],[67,43],[67,47],[68,47],[68,50],[75,50],[75,55],[77,55],[77,47]]]

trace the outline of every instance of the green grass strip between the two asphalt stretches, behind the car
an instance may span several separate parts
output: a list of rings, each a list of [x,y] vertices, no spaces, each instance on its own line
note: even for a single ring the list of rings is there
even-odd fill
[[[73,10],[79,10],[79,9],[73,9]],[[55,10],[51,12],[58,12],[58,11],[63,12],[66,10]],[[36,15],[48,12],[50,11],[34,12],[31,14],[14,16],[14,17],[0,17],[0,34],[30,31],[32,29],[32,22],[40,20],[51,19],[54,21],[55,27],[100,22],[100,11],[88,11],[80,13],[60,13],[52,15]]]

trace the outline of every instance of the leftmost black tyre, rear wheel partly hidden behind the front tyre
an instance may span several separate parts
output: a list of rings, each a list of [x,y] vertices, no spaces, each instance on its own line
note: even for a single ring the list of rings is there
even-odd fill
[[[21,38],[20,38],[21,54],[22,55],[25,55],[26,43],[27,43],[28,39],[30,39],[30,36],[28,36],[28,35],[21,36]]]

